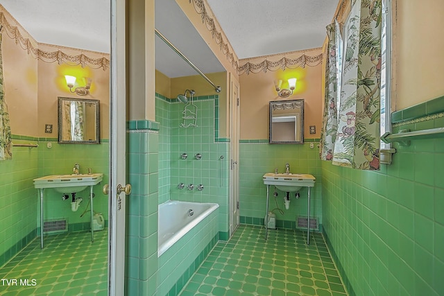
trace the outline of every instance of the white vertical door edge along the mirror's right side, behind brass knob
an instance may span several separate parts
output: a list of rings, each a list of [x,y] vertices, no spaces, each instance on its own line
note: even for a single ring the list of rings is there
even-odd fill
[[[108,227],[108,295],[125,291],[125,196],[117,184],[126,184],[126,8],[125,0],[111,1],[110,57],[110,182]]]

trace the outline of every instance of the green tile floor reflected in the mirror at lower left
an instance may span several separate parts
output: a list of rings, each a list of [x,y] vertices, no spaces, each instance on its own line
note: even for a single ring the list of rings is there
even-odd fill
[[[90,232],[47,235],[43,250],[37,237],[0,268],[0,295],[108,295],[107,274],[106,229],[94,232],[94,243]]]

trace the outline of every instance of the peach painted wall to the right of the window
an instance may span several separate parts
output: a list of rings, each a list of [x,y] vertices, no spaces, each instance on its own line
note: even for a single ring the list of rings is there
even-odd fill
[[[394,1],[395,110],[444,94],[444,1]]]

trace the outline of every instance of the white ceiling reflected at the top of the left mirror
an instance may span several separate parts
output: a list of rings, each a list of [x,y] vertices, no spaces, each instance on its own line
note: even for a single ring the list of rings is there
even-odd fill
[[[0,0],[0,4],[37,42],[110,53],[110,1]]]

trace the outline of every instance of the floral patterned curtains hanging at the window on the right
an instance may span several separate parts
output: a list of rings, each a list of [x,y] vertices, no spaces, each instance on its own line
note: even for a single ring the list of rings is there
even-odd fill
[[[326,137],[329,134],[328,110],[324,112],[323,119],[325,129],[321,156],[327,149],[323,159],[332,158],[335,165],[362,170],[379,169],[381,23],[382,0],[356,0],[352,3],[350,16],[343,27],[342,81],[339,92],[336,92],[339,95],[339,112],[331,156],[328,153],[331,145],[325,144],[329,140]],[[331,76],[329,73],[326,87],[327,84],[334,85],[330,81]],[[325,103],[325,107],[330,107],[330,103]],[[331,133],[330,137],[333,139]]]

